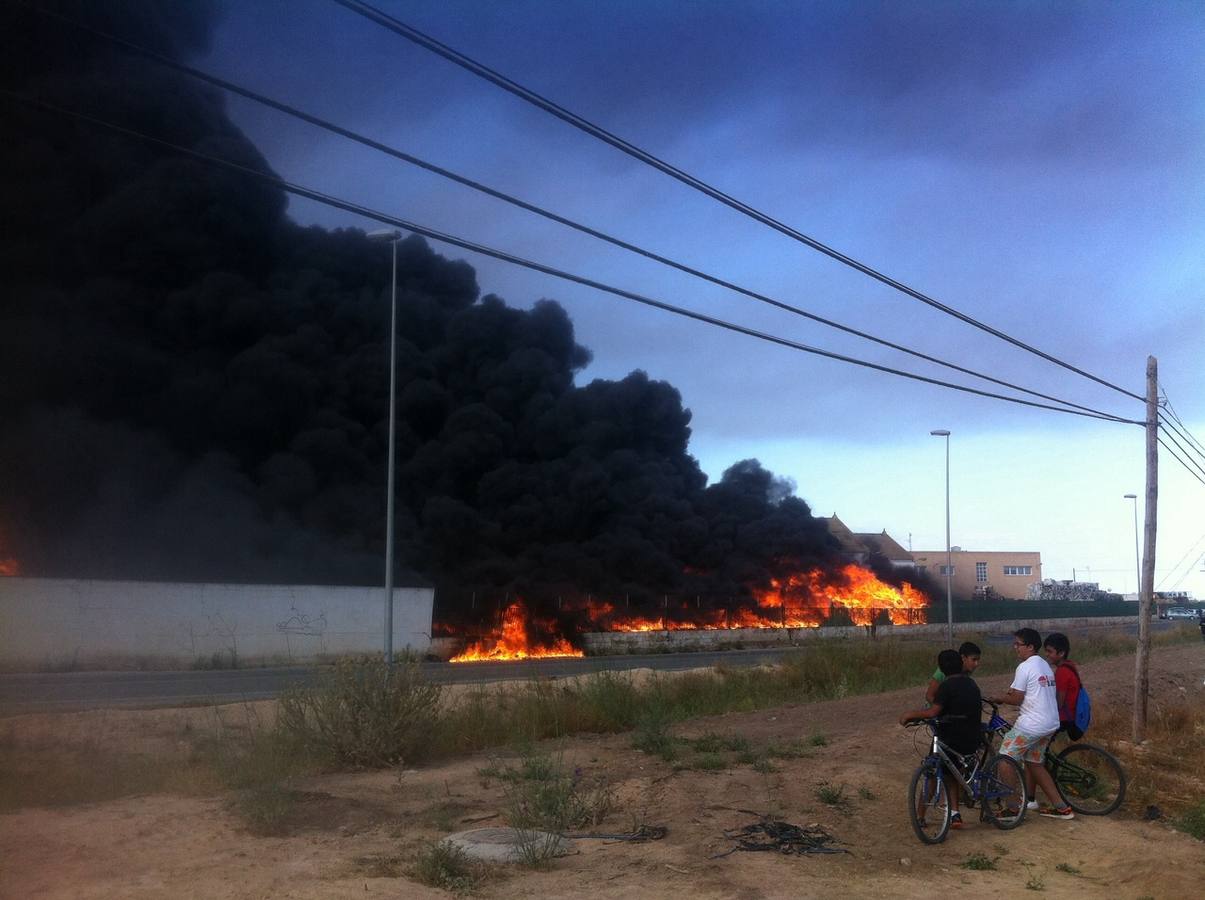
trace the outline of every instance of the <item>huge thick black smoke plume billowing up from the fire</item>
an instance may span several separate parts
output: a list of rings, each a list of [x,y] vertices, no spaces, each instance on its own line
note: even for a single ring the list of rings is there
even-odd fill
[[[188,55],[204,4],[61,0]],[[0,5],[6,89],[266,169],[223,98]],[[301,228],[237,173],[0,101],[0,555],[29,575],[381,583],[388,247]],[[552,300],[478,296],[400,246],[399,580],[464,620],[523,596],[747,600],[828,565],[824,523],[756,460],[707,486],[678,392],[581,387]],[[571,605],[571,604],[570,604]]]

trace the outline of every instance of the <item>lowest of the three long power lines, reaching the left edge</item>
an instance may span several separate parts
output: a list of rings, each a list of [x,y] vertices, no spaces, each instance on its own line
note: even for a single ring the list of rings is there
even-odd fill
[[[792,341],[789,339],[781,337],[778,335],[772,335],[772,334],[769,334],[769,333],[765,333],[765,331],[758,331],[756,329],[747,328],[745,325],[739,325],[736,323],[728,322],[725,319],[719,319],[719,318],[716,318],[713,316],[707,316],[707,314],[701,313],[701,312],[695,312],[693,310],[687,310],[687,308],[681,307],[681,306],[675,306],[672,304],[668,304],[668,302],[664,302],[662,300],[656,300],[653,298],[648,298],[648,296],[645,296],[642,294],[636,294],[636,293],[630,292],[630,290],[624,290],[623,288],[616,288],[616,287],[612,287],[610,284],[605,284],[604,282],[594,281],[593,278],[587,278],[584,276],[574,275],[571,272],[566,272],[566,271],[556,269],[553,266],[545,265],[543,263],[537,263],[537,261],[534,261],[534,260],[524,259],[522,257],[517,257],[517,255],[513,255],[511,253],[506,253],[505,251],[499,251],[499,249],[495,249],[493,247],[486,247],[484,245],[480,245],[480,243],[475,243],[472,241],[468,241],[468,240],[465,240],[463,237],[457,237],[454,235],[448,235],[448,234],[445,234],[442,231],[437,231],[435,229],[427,228],[425,225],[419,225],[419,224],[416,224],[416,223],[412,223],[412,222],[407,222],[407,220],[398,218],[395,216],[389,216],[389,214],[380,212],[377,210],[371,210],[371,208],[369,208],[366,206],[360,206],[359,204],[353,204],[351,201],[341,200],[341,199],[331,196],[329,194],[323,194],[321,192],[301,187],[299,184],[294,184],[292,182],[284,181],[283,178],[281,178],[277,175],[269,173],[269,172],[263,172],[263,171],[259,171],[259,170],[255,170],[255,169],[251,169],[248,166],[240,165],[239,163],[234,163],[234,161],[224,159],[222,157],[214,157],[214,155],[211,155],[208,153],[202,153],[202,152],[196,151],[196,149],[192,149],[192,148],[188,148],[188,147],[182,147],[182,146],[180,146],[177,143],[172,143],[170,141],[165,141],[163,139],[154,137],[152,135],[147,135],[147,134],[143,134],[141,131],[136,131],[136,130],[130,129],[130,128],[125,128],[124,125],[118,125],[118,124],[114,124],[114,123],[111,123],[111,122],[106,122],[104,119],[99,119],[99,118],[96,118],[94,116],[89,116],[87,113],[77,112],[75,110],[67,110],[65,107],[57,106],[54,104],[49,104],[49,102],[46,102],[43,100],[37,100],[37,99],[34,99],[34,98],[30,98],[30,96],[25,96],[23,94],[18,94],[16,92],[11,92],[11,90],[7,90],[7,89],[0,89],[0,94],[2,94],[4,96],[10,98],[12,100],[16,100],[18,102],[25,104],[27,106],[31,106],[34,108],[39,108],[39,110],[47,111],[47,112],[53,112],[53,113],[57,113],[57,114],[60,114],[60,116],[65,116],[65,117],[69,117],[69,118],[72,118],[72,119],[80,120],[80,122],[88,123],[88,124],[98,127],[98,128],[106,129],[108,131],[113,131],[113,133],[117,133],[117,134],[125,135],[128,137],[135,137],[135,139],[145,141],[145,142],[154,143],[157,146],[171,149],[171,151],[174,151],[176,153],[181,153],[181,154],[192,157],[194,159],[199,159],[199,160],[205,161],[205,163],[211,164],[211,165],[216,165],[216,166],[219,166],[219,167],[223,167],[223,169],[228,169],[230,171],[241,172],[241,173],[243,173],[246,176],[249,176],[249,177],[253,177],[253,178],[255,178],[258,181],[272,184],[272,186],[277,187],[278,189],[286,190],[286,192],[288,192],[290,194],[294,194],[296,196],[304,196],[304,198],[306,198],[308,200],[313,200],[316,202],[324,204],[327,206],[331,206],[331,207],[337,208],[337,210],[343,210],[346,212],[352,212],[352,213],[355,213],[358,216],[363,216],[363,217],[369,218],[369,219],[375,219],[376,222],[381,222],[381,223],[384,223],[384,224],[388,224],[388,225],[393,225],[395,228],[405,229],[407,231],[412,231],[415,234],[419,234],[419,235],[423,235],[425,237],[430,237],[431,240],[435,240],[435,241],[440,241],[440,242],[443,242],[443,243],[449,243],[449,245],[455,246],[455,247],[460,247],[460,248],[470,251],[472,253],[480,253],[480,254],[486,255],[486,257],[492,257],[493,259],[499,259],[499,260],[505,261],[505,263],[511,263],[513,265],[523,266],[525,269],[531,269],[533,271],[542,272],[545,275],[551,275],[553,277],[562,278],[564,281],[569,281],[569,282],[574,282],[576,284],[582,284],[584,287],[594,288],[595,290],[601,290],[604,293],[613,294],[615,296],[619,296],[619,298],[623,298],[623,299],[627,299],[627,300],[631,300],[631,301],[639,302],[639,304],[641,304],[643,306],[649,306],[649,307],[653,307],[653,308],[657,308],[657,310],[663,310],[665,312],[670,312],[670,313],[674,313],[676,316],[683,316],[686,318],[690,318],[690,319],[694,319],[696,322],[703,322],[705,324],[715,325],[717,328],[723,328],[725,330],[735,331],[737,334],[748,335],[750,337],[756,337],[758,340],[763,340],[763,341],[766,341],[766,342],[770,342],[770,343],[776,343],[776,345],[782,346],[782,347],[787,347],[787,348],[790,348],[790,349],[797,349],[797,351],[800,351],[800,352],[804,352],[804,353],[810,353],[810,354],[818,355],[818,357],[824,357],[827,359],[834,359],[834,360],[837,360],[837,361],[841,361],[841,363],[848,363],[851,365],[862,366],[864,369],[871,369],[871,370],[884,372],[884,373],[888,373],[888,375],[897,375],[897,376],[903,377],[903,378],[910,378],[912,381],[918,381],[918,382],[923,382],[923,383],[927,383],[927,384],[934,384],[934,386],[937,386],[937,387],[950,388],[952,390],[960,390],[960,392],[966,393],[966,394],[974,394],[974,395],[977,395],[977,396],[989,398],[989,399],[993,399],[993,400],[1004,400],[1006,402],[1019,404],[1022,406],[1030,406],[1030,407],[1035,407],[1035,408],[1040,408],[1040,410],[1051,410],[1051,411],[1054,411],[1054,412],[1066,413],[1069,416],[1082,416],[1082,417],[1086,417],[1086,418],[1097,418],[1097,419],[1104,418],[1104,419],[1110,420],[1110,422],[1121,422],[1121,423],[1124,423],[1124,424],[1133,424],[1133,425],[1141,425],[1141,424],[1144,424],[1144,423],[1138,422],[1135,419],[1121,419],[1121,418],[1112,417],[1112,416],[1105,417],[1105,416],[1100,416],[1100,414],[1097,414],[1097,413],[1081,412],[1081,411],[1077,411],[1077,410],[1068,410],[1068,408],[1064,408],[1062,406],[1051,406],[1048,404],[1039,404],[1039,402],[1035,402],[1033,400],[1023,400],[1023,399],[1016,398],[1016,396],[1007,396],[1005,394],[995,394],[995,393],[992,393],[992,392],[988,392],[988,390],[980,390],[978,388],[971,388],[971,387],[968,387],[965,384],[954,384],[952,382],[945,382],[945,381],[940,381],[937,378],[930,378],[930,377],[924,376],[924,375],[917,375],[915,372],[907,372],[907,371],[904,371],[904,370],[900,370],[900,369],[893,369],[890,366],[880,365],[877,363],[870,363],[870,361],[866,361],[866,360],[863,360],[863,359],[857,359],[854,357],[847,357],[847,355],[844,355],[844,354],[840,354],[840,353],[834,353],[831,351],[824,351],[824,349],[819,349],[817,347],[811,347],[809,345],[800,343],[798,341]]]

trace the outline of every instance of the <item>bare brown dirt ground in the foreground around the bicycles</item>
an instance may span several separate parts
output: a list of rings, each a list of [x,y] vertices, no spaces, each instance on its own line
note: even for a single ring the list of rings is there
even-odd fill
[[[1084,666],[1099,711],[1128,708],[1131,658]],[[982,680],[984,693],[1006,677]],[[1205,649],[1158,651],[1157,696],[1205,704]],[[630,735],[587,735],[547,747],[588,776],[605,776],[618,799],[600,830],[634,822],[665,825],[649,843],[575,841],[576,853],[547,871],[517,866],[478,888],[484,898],[931,898],[968,889],[987,895],[1140,898],[1199,896],[1205,845],[1162,822],[1131,813],[1072,822],[1027,818],[1013,831],[974,820],[934,847],[907,822],[907,780],[921,751],[915,730],[895,724],[919,700],[919,688],[696,719],[682,735],[740,735],[754,745],[823,734],[828,745],[783,759],[778,771],[750,766],[675,772],[631,748]],[[119,742],[170,753],[214,714],[247,711],[159,710],[23,716],[0,723],[22,735]],[[301,786],[306,800],[287,837],[254,837],[223,799],[151,795],[0,816],[2,898],[441,898],[405,875],[408,860],[447,830],[501,824],[501,787],[480,773],[484,754],[417,771],[324,776]],[[852,802],[821,802],[821,784],[846,786]],[[850,853],[794,857],[733,853],[725,829],[772,813],[795,824],[819,823]],[[993,871],[959,866],[968,855],[995,859]],[[1063,865],[1076,872],[1060,870]]]

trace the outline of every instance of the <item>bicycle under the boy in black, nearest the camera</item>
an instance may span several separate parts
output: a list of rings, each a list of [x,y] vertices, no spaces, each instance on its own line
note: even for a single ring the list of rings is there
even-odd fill
[[[936,727],[956,718],[962,717],[939,716],[909,723],[909,728],[928,725],[933,734],[929,754],[917,766],[909,784],[912,830],[924,843],[941,843],[950,834],[952,810],[945,778],[947,773],[958,784],[963,805],[978,805],[981,822],[1007,830],[1025,818],[1025,782],[1017,760],[993,753],[987,743],[974,753],[959,753],[944,743],[937,737]]]

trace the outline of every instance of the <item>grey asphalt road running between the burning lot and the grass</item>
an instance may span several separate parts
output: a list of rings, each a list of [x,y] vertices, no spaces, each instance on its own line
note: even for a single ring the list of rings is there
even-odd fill
[[[1171,628],[1152,622],[1152,631]],[[1078,629],[1069,629],[1072,634]],[[1122,629],[1138,633],[1138,623]],[[989,643],[1006,643],[1011,633],[988,635]],[[723,663],[751,666],[776,663],[806,647],[728,649],[707,653],[653,653],[647,655],[533,659],[522,663],[423,663],[433,681],[445,684],[487,683],[525,678],[554,678],[599,671],[657,669],[681,671]],[[27,712],[63,712],[102,707],[184,706],[268,700],[281,690],[312,678],[306,666],[287,669],[230,669],[164,672],[30,672],[0,675],[0,716]]]

